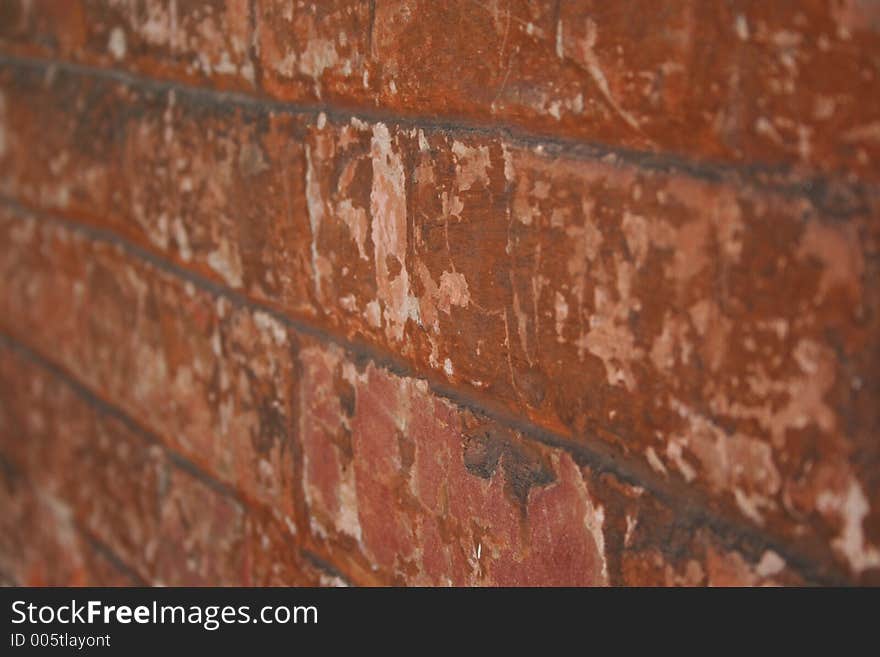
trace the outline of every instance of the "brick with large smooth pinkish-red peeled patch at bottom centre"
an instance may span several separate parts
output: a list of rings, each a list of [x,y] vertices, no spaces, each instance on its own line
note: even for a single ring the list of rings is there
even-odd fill
[[[578,501],[570,486],[551,494],[574,494],[569,504],[545,506],[549,499],[538,496],[527,511],[503,467],[485,478],[467,471],[463,415],[433,398],[424,383],[372,365],[359,372],[337,351],[319,346],[303,350],[301,359],[303,385],[335,400],[322,410],[314,397],[304,397],[303,422],[349,432],[347,443],[326,431],[303,433],[306,463],[325,463],[308,471],[305,482],[322,491],[308,498],[320,534],[353,540],[401,583],[604,581],[594,539],[582,524],[584,508],[570,503]],[[521,457],[511,451],[504,458]],[[572,516],[577,522],[568,529]],[[532,517],[540,517],[540,524],[530,530]],[[544,549],[548,540],[554,549]]]

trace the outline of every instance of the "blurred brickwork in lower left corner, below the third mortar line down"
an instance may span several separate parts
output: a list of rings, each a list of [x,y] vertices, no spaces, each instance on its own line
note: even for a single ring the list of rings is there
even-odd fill
[[[303,556],[289,518],[265,507],[243,508],[231,491],[179,458],[169,458],[148,436],[133,433],[84,393],[5,345],[0,345],[0,391],[0,455],[9,487],[16,491],[16,486],[30,486],[25,490],[34,498],[13,500],[4,507],[12,514],[9,535],[22,533],[12,531],[15,522],[28,527],[13,513],[16,504],[36,504],[47,529],[58,523],[58,531],[69,535],[63,540],[72,546],[72,555],[60,561],[85,569],[70,577],[92,577],[89,559],[101,558],[93,547],[81,545],[82,527],[140,580],[153,584],[291,586],[341,581]],[[22,514],[30,508],[22,506]],[[69,530],[64,529],[67,525]],[[29,536],[27,531],[24,535]],[[42,545],[30,538],[35,546]],[[39,554],[36,547],[33,551]],[[10,578],[25,575],[29,567],[13,556],[14,546],[4,546],[3,572],[8,570]],[[83,560],[81,566],[78,560]],[[50,575],[54,583],[63,581],[62,574],[45,576]],[[122,575],[117,573],[117,578]]]

